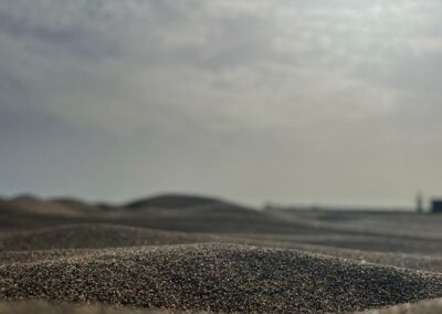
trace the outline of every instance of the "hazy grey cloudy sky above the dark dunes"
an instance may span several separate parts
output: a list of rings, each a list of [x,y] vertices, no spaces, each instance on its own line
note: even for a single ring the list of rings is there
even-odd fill
[[[2,0],[0,195],[442,193],[438,0]]]

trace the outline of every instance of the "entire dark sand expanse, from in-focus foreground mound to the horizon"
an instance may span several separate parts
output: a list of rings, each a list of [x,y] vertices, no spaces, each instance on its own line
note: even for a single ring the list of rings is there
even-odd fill
[[[439,216],[256,211],[182,196],[134,203],[0,202],[0,299],[343,313],[442,296]],[[0,313],[67,311],[18,304]]]

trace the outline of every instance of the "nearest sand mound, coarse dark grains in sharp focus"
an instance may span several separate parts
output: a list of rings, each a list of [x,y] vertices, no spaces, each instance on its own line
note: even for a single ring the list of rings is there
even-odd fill
[[[222,312],[345,312],[442,295],[434,273],[293,250],[187,244],[0,266],[1,299]]]

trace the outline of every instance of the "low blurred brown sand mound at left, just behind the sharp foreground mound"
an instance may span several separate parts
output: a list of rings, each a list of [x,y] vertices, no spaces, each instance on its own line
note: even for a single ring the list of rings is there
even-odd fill
[[[113,224],[73,224],[0,236],[0,251],[93,249],[213,241],[213,237]]]

